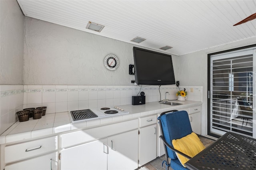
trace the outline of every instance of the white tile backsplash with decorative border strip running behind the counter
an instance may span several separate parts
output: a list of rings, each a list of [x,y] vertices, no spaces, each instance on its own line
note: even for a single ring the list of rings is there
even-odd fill
[[[188,91],[187,100],[202,101],[202,86],[180,86]],[[0,85],[1,117],[0,133],[14,124],[17,111],[23,108],[46,106],[47,113],[59,113],[78,109],[89,109],[115,105],[131,105],[132,96],[144,91],[146,103],[166,98],[175,100],[178,87],[158,86],[102,86],[102,85]],[[161,95],[160,95],[161,93]]]

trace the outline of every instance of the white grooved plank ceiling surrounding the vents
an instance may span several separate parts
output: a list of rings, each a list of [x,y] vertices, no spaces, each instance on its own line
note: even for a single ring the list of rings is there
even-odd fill
[[[256,13],[256,0],[17,1],[25,16],[128,43],[138,36],[146,39],[139,45],[168,45],[174,55],[256,38],[256,20],[233,26]],[[88,30],[88,21],[105,27]]]

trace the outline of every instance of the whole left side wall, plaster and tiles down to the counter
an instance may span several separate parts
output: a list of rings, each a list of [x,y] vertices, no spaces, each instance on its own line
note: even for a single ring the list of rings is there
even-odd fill
[[[24,16],[16,0],[0,0],[0,133],[23,107]]]

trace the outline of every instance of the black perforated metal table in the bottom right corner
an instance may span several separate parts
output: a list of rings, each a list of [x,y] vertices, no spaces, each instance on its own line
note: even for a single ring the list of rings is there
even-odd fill
[[[226,132],[185,166],[191,170],[256,170],[256,139]]]

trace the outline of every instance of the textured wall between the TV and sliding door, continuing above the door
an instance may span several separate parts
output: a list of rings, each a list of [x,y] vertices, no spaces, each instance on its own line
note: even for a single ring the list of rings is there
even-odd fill
[[[180,85],[203,86],[202,135],[207,133],[207,55],[255,43],[256,37],[179,56],[177,75],[181,77]]]

